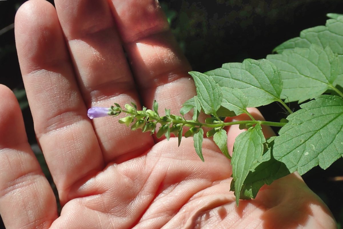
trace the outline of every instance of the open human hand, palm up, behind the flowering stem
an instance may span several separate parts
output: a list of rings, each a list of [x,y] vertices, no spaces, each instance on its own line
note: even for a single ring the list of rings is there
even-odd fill
[[[165,107],[178,114],[195,94],[190,65],[155,0],[55,4],[25,2],[15,37],[37,140],[62,211],[59,216],[27,142],[15,96],[1,85],[0,214],[7,229],[336,227],[296,174],[236,207],[230,161],[212,139],[204,139],[202,162],[192,138],[178,147],[176,138],[131,131],[118,123],[122,116],[88,118],[90,107],[134,102],[151,108],[154,99],[161,114]],[[232,153],[242,130],[227,131]],[[265,128],[264,134],[273,132]]]

